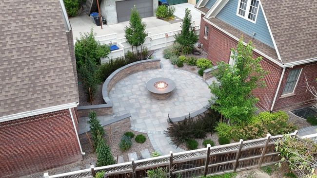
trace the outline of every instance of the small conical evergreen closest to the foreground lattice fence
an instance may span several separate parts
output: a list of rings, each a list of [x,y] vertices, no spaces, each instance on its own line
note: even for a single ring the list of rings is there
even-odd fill
[[[98,145],[96,149],[97,166],[107,166],[115,163],[115,160],[111,154],[111,150],[102,136],[98,132]]]

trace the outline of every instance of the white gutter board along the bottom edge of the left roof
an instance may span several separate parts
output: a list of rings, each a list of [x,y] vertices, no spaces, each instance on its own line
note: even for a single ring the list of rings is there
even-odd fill
[[[79,102],[68,103],[68,104],[58,105],[58,106],[54,106],[54,107],[45,107],[45,108],[41,108],[41,109],[20,112],[17,114],[11,114],[8,116],[2,116],[2,117],[0,117],[0,123],[5,122],[5,121],[20,119],[20,118],[24,118],[24,117],[30,117],[30,116],[35,116],[35,115],[39,115],[39,114],[44,114],[44,113],[48,113],[48,112],[54,112],[54,111],[58,111],[58,110],[68,109],[68,108],[72,108],[72,107],[77,107],[78,104],[79,104]]]

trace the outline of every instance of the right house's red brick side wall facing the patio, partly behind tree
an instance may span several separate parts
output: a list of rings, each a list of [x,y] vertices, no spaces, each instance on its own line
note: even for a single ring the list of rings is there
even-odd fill
[[[201,34],[203,34],[202,29],[204,30],[204,26],[209,25],[208,41],[201,37],[201,35],[199,36],[199,42],[204,44],[203,47],[205,48],[203,49],[208,53],[208,59],[211,60],[214,65],[217,65],[220,61],[229,63],[230,50],[232,48],[237,48],[238,41],[219,31],[203,19],[201,19],[200,25],[203,27],[200,28]],[[257,56],[261,55],[254,52],[254,57]],[[269,74],[264,78],[266,87],[263,89],[255,89],[254,94],[260,99],[258,107],[262,110],[270,110],[282,73],[282,68],[264,57],[260,64],[265,71],[269,71]]]

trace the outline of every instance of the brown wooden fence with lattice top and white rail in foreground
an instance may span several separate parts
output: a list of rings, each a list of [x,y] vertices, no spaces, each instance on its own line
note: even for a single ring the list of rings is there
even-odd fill
[[[290,136],[297,136],[297,131]],[[220,175],[261,166],[276,164],[280,161],[274,143],[283,135],[219,145],[197,150],[170,153],[144,160],[132,160],[120,164],[94,167],[54,176],[44,174],[44,178],[92,178],[97,172],[104,171],[107,178],[146,178],[146,171],[158,167],[166,168],[170,178],[181,176],[193,178],[206,175]]]

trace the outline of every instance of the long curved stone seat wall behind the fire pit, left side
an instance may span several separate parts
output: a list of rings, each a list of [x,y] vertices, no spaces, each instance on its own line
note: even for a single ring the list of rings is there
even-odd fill
[[[160,69],[160,59],[147,59],[141,60],[137,62],[133,62],[131,64],[125,65],[113,73],[106,79],[102,86],[102,97],[103,100],[112,106],[112,102],[108,97],[109,91],[113,88],[113,86],[122,78],[131,75],[132,73],[136,73],[139,71],[151,70],[151,69]]]

